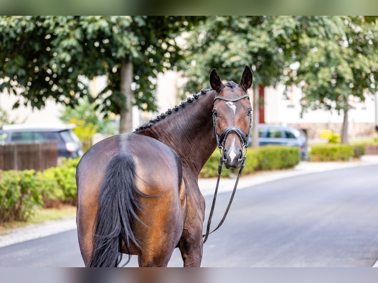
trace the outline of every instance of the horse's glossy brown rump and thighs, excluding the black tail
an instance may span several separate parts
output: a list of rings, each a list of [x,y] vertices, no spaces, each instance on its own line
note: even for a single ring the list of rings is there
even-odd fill
[[[140,242],[142,250],[150,249],[140,257],[141,265],[159,262],[156,258],[159,249],[169,249],[164,256],[173,252],[181,236],[184,188],[180,158],[173,149],[150,137],[134,133],[116,135],[94,144],[77,165],[76,221],[84,262],[88,262],[92,252],[93,227],[97,213],[101,213],[97,212],[100,188],[106,185],[104,179],[109,179],[112,162],[127,156],[132,158],[135,167],[132,170],[133,181],[141,192],[138,198],[143,208],[137,214],[144,224],[136,225],[133,233],[136,239],[143,239]],[[126,252],[125,249],[123,251]],[[141,255],[137,249],[133,249],[132,253]],[[166,260],[160,259],[161,265]]]

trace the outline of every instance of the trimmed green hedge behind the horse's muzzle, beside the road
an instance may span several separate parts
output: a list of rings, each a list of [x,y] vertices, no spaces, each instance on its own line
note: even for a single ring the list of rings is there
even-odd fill
[[[217,177],[218,165],[221,154],[215,150],[205,166],[200,172],[200,177]],[[292,168],[301,161],[300,149],[298,147],[288,147],[280,145],[261,146],[256,149],[248,148],[247,159],[243,174],[250,174],[257,170],[277,170]],[[222,169],[222,177],[230,174],[238,174],[239,169],[227,170]]]

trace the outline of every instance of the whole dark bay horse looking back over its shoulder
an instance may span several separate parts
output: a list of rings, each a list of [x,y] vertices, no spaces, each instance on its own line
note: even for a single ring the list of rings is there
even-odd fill
[[[226,168],[243,164],[251,84],[247,66],[239,84],[223,83],[214,69],[212,90],[82,156],[76,223],[85,266],[118,266],[123,253],[138,255],[142,267],[167,266],[174,248],[185,267],[200,266],[205,200],[198,174],[217,142]]]

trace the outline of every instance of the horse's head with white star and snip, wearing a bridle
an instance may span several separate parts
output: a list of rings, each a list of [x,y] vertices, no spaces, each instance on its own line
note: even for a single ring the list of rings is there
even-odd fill
[[[223,163],[228,169],[243,165],[251,130],[252,108],[247,94],[252,85],[252,71],[246,66],[240,83],[222,83],[218,72],[210,73],[210,85],[217,92],[213,122]]]

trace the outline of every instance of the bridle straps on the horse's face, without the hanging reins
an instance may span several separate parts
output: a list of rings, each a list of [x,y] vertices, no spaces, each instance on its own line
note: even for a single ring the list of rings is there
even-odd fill
[[[249,95],[245,94],[245,95],[239,96],[237,98],[233,98],[233,99],[226,98],[226,97],[223,97],[223,96],[216,96],[214,98],[214,102],[217,99],[224,100],[224,101],[227,101],[227,102],[236,102],[236,101],[239,101],[243,98],[248,98],[248,100],[249,100]],[[219,149],[221,150],[221,156],[223,156],[223,151],[225,149],[225,143],[226,143],[228,135],[229,134],[236,134],[238,136],[240,143],[241,143],[241,146],[243,148],[243,152],[244,152],[243,155],[244,155],[244,160],[245,160],[245,157],[247,156],[248,138],[249,138],[249,135],[251,133],[251,128],[252,128],[252,114],[250,115],[249,130],[248,130],[247,136],[244,135],[243,131],[240,130],[238,127],[228,127],[219,136],[218,133],[217,133],[217,126],[215,124],[214,113],[213,113],[213,126],[214,126],[215,137],[217,139],[217,144],[218,144]],[[244,161],[243,161],[243,164],[244,164]]]

